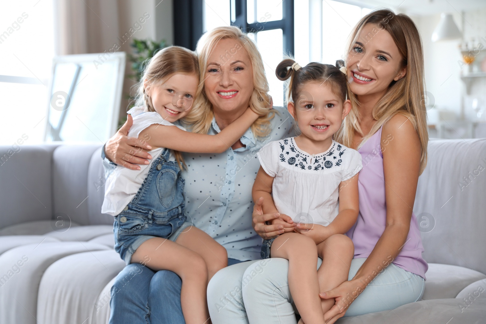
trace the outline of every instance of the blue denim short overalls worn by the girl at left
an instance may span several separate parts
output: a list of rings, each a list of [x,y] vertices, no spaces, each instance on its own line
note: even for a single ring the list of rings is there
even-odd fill
[[[184,179],[177,161],[168,161],[169,154],[169,149],[162,150],[135,197],[115,216],[115,251],[126,264],[147,239],[175,241],[175,232],[187,223],[183,214]]]

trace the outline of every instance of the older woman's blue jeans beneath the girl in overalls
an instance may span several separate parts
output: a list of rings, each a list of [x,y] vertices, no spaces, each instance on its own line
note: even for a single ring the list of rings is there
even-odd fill
[[[228,266],[243,261],[228,258]],[[185,324],[181,278],[169,270],[127,265],[111,287],[109,324]]]

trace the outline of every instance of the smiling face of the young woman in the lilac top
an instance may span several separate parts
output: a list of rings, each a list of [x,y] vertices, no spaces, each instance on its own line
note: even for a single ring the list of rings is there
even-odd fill
[[[358,96],[382,96],[392,81],[405,76],[402,59],[390,33],[376,24],[364,25],[347,55],[351,91]]]

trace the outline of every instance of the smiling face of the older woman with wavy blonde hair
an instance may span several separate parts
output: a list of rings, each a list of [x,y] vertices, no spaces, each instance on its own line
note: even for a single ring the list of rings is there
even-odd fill
[[[208,57],[204,75],[206,96],[214,112],[240,112],[253,93],[253,68],[248,53],[238,40],[220,40]]]

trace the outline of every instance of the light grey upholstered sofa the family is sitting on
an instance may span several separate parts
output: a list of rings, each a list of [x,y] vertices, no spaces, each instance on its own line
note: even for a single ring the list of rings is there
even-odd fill
[[[100,213],[100,150],[0,146],[0,324],[107,323],[124,262]],[[486,138],[431,140],[414,205],[423,300],[338,323],[486,323],[485,192]]]

